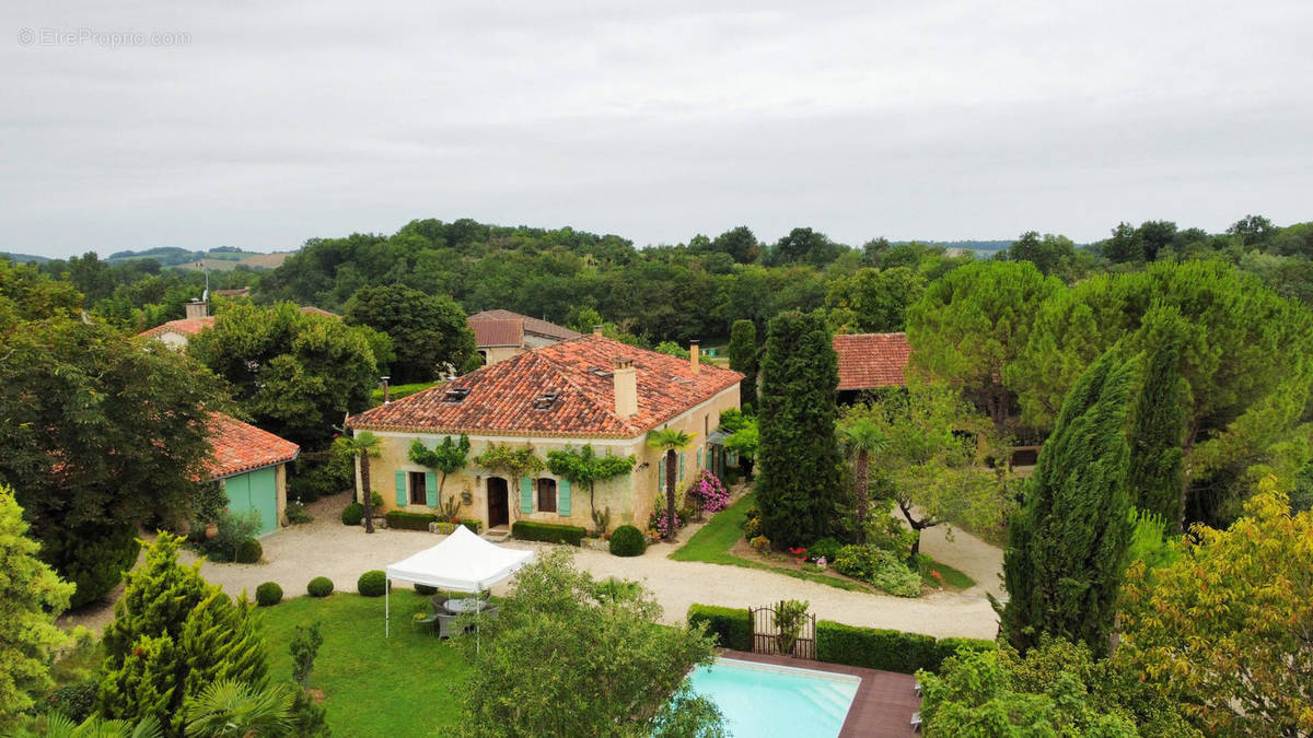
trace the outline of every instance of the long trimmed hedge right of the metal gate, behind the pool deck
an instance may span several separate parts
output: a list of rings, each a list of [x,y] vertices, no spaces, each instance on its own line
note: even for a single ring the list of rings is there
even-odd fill
[[[697,605],[695,605],[697,607]],[[915,674],[918,670],[937,671],[943,661],[965,647],[987,651],[994,641],[974,638],[944,638],[902,630],[857,628],[830,620],[817,621],[817,659],[847,666],[861,666],[882,671]]]

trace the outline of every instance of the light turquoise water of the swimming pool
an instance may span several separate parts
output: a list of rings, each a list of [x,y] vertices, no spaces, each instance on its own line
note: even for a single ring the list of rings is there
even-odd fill
[[[689,678],[725,713],[734,738],[836,738],[861,679],[807,668],[717,659]]]

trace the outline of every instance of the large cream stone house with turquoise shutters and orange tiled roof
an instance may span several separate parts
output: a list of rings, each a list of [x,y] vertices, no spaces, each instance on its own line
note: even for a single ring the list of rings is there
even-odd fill
[[[742,378],[702,362],[696,349],[691,358],[679,358],[582,335],[368,410],[347,424],[382,441],[379,460],[370,462],[370,487],[383,492],[386,508],[431,512],[456,499],[462,516],[494,528],[533,520],[590,529],[592,513],[609,508],[608,528],[624,523],[646,528],[663,462],[647,446],[647,432],[676,428],[693,436],[675,458],[678,478],[687,483],[713,466],[706,439],[718,427],[720,412],[739,406]],[[470,440],[471,460],[507,445],[530,448],[545,461],[550,450],[587,444],[597,454],[632,454],[635,465],[632,474],[599,483],[590,503],[587,490],[572,490],[569,479],[548,471],[512,478],[471,461],[444,482],[436,470],[410,458],[416,440],[433,448],[462,435]]]

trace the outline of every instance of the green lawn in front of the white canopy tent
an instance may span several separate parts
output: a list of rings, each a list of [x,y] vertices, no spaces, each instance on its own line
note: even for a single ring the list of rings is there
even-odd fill
[[[412,613],[431,609],[427,597],[394,591],[393,636],[385,638],[382,597],[337,592],[261,608],[269,675],[291,678],[293,629],[319,621],[324,643],[310,687],[324,692],[334,735],[453,734],[469,666],[458,649],[411,625]]]

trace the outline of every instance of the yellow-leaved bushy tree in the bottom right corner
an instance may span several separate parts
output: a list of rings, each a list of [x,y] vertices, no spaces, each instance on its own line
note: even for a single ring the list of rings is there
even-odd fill
[[[1115,661],[1208,735],[1313,734],[1313,512],[1268,477],[1228,529],[1132,566]]]

